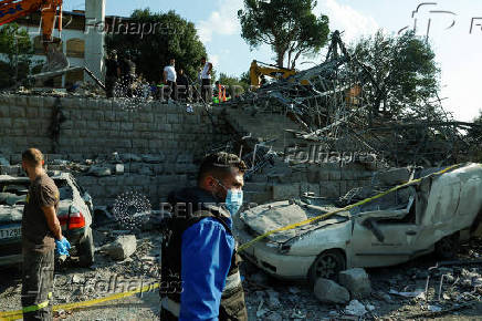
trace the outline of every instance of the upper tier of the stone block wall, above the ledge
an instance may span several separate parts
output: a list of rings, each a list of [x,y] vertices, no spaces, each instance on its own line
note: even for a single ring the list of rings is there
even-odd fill
[[[57,100],[65,122],[54,144],[50,126]],[[132,107],[105,99],[2,95],[0,151],[20,153],[27,146],[35,146],[45,153],[91,157],[112,152],[189,151],[196,155],[205,152],[206,145],[222,138],[222,133],[214,133],[202,106],[195,106],[193,113],[188,113],[186,106],[158,102]],[[213,121],[219,122],[219,112],[211,112]]]

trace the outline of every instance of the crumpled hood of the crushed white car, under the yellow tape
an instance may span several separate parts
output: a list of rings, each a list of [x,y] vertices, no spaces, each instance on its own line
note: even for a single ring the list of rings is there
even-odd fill
[[[279,229],[295,222],[300,222],[328,211],[337,209],[336,207],[321,207],[306,205],[301,201],[275,201],[256,206],[240,214],[240,220],[244,222],[244,228],[253,236],[263,235],[268,231]],[[324,226],[346,221],[349,216],[342,211],[325,220],[316,220],[289,230],[279,231],[268,237],[275,242],[285,242],[294,237],[301,236],[306,231],[322,228]]]

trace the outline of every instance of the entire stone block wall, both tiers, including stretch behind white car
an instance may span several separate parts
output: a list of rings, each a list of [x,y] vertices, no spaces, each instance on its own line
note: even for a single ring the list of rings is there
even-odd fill
[[[65,117],[56,143],[50,132],[55,106]],[[20,174],[21,152],[38,147],[49,169],[71,170],[95,204],[112,205],[123,193],[136,190],[156,208],[170,190],[195,185],[201,157],[229,137],[221,110],[210,111],[213,126],[202,106],[193,107],[188,113],[186,106],[151,102],[128,110],[105,99],[1,95],[0,156],[12,166],[0,164],[0,174]],[[114,170],[114,152],[123,173]],[[135,157],[127,157],[130,154]],[[72,166],[85,159],[111,167],[113,174],[97,177]],[[245,200],[261,204],[304,191],[337,198],[369,185],[373,172],[359,164],[287,166],[279,159],[247,180]]]

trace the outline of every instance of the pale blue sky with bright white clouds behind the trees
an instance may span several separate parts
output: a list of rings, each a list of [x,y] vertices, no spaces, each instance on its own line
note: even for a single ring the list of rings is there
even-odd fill
[[[216,70],[240,75],[249,70],[253,59],[274,61],[268,45],[251,51],[241,38],[237,13],[242,7],[242,0],[106,0],[106,14],[129,15],[139,8],[150,8],[155,12],[175,10],[196,24]],[[479,96],[482,1],[318,0],[315,13],[328,15],[331,30],[343,31],[346,43],[374,34],[378,29],[397,34],[404,28],[413,29],[417,21],[417,34],[428,34],[442,70],[440,97],[446,110],[459,121],[472,121],[482,110]],[[321,54],[304,59],[296,65],[301,70],[308,69],[321,63],[323,58]]]

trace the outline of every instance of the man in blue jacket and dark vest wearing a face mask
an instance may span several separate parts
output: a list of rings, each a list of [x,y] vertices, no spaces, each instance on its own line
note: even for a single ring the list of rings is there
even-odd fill
[[[161,320],[248,320],[232,219],[242,205],[245,164],[211,154],[198,186],[174,191],[161,248]]]

